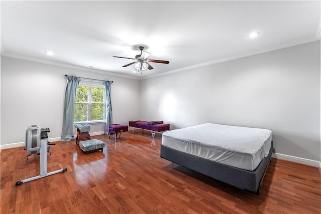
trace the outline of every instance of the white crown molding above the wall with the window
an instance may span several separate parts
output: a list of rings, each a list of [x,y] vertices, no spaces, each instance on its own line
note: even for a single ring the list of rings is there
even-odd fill
[[[123,77],[123,78],[127,78],[127,79],[139,80],[138,77],[116,74],[111,71],[97,70],[94,68],[85,68],[85,67],[81,67],[81,66],[70,65],[70,64],[65,64],[65,63],[58,63],[58,62],[53,62],[53,61],[49,61],[49,60],[40,60],[40,59],[36,59],[36,58],[19,56],[19,55],[15,55],[15,54],[5,54],[2,51],[1,51],[1,56],[16,58],[16,59],[20,59],[20,60],[27,60],[27,61],[37,62],[37,63],[43,63],[43,64],[48,64],[48,65],[60,66],[60,67],[64,67],[64,68],[72,68],[72,69],[77,69],[77,70],[82,70],[82,71],[90,71],[90,72],[95,72],[95,73],[105,74],[105,75],[110,75],[110,76]]]

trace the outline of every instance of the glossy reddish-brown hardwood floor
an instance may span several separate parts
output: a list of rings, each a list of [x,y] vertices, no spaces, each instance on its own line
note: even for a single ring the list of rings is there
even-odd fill
[[[321,213],[318,168],[272,158],[260,195],[224,184],[159,157],[161,134],[137,129],[121,138],[92,136],[103,151],[83,154],[75,140],[56,142],[54,174],[23,147],[1,151],[1,213]]]

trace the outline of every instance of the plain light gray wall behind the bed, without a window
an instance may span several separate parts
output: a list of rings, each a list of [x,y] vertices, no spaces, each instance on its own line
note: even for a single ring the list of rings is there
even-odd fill
[[[320,41],[141,80],[141,119],[270,129],[277,153],[320,160]]]

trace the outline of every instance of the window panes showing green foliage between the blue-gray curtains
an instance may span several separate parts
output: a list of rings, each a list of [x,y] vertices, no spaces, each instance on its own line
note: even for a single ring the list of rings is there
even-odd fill
[[[74,122],[106,119],[106,96],[103,86],[79,84],[75,100]]]

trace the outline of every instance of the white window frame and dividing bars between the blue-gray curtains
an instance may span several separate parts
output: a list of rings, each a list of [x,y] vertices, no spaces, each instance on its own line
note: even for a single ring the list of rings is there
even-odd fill
[[[74,121],[75,123],[105,123],[106,122],[106,90],[104,88],[104,84],[102,81],[97,81],[97,80],[86,80],[86,79],[81,79],[79,82],[79,85],[84,85],[88,86],[88,94],[87,94],[87,101],[89,102],[75,102],[75,104],[80,103],[80,104],[88,104],[88,120],[87,121]],[[93,103],[91,102],[91,87],[103,87],[104,88],[104,100],[103,103]],[[89,120],[91,118],[91,109],[92,109],[92,104],[103,104],[104,105],[104,119],[102,120]]]

